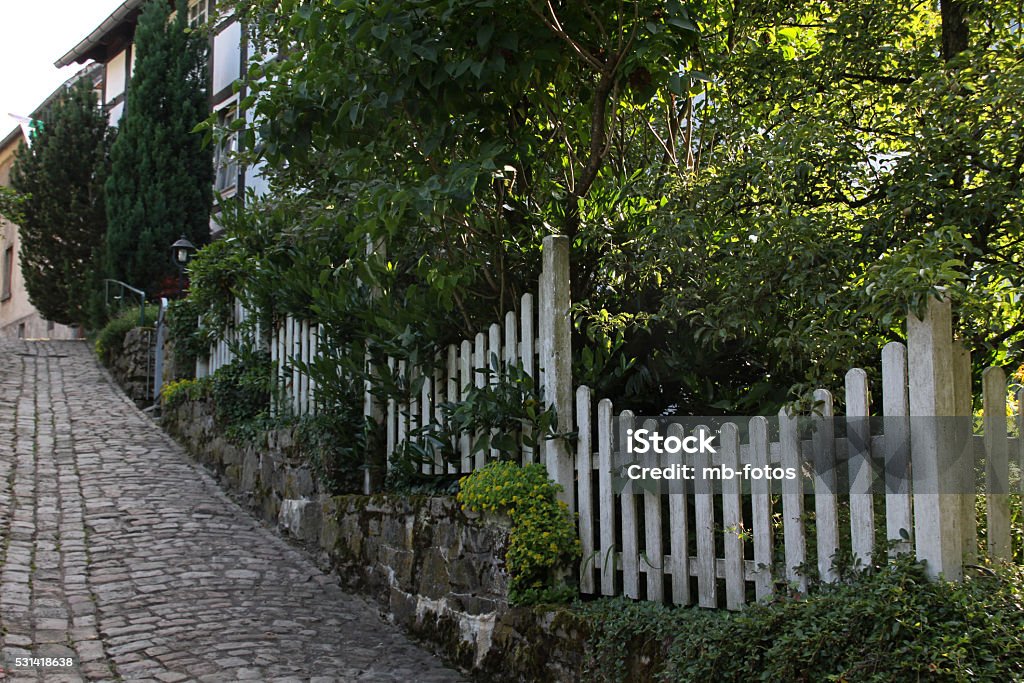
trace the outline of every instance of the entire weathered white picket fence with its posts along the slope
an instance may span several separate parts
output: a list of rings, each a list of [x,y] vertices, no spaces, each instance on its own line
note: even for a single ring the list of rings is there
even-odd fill
[[[777,465],[801,472],[813,465],[807,467],[807,481],[783,480],[772,489],[763,480],[745,486],[738,479],[697,480],[673,493],[641,490],[627,482],[616,490],[614,473],[623,461],[613,426],[615,421],[632,424],[634,416],[615,416],[608,400],[595,407],[588,387],[573,391],[568,241],[547,238],[543,253],[538,296],[524,295],[518,311],[450,345],[429,370],[387,360],[400,386],[420,387],[416,395],[392,396],[384,405],[367,388],[365,413],[383,422],[389,459],[417,438],[419,427],[441,421],[442,403],[465,400],[471,386],[482,386],[486,375],[478,371],[497,358],[499,375],[520,365],[537,379],[539,397],[557,412],[556,431],[578,434],[571,451],[566,439],[550,439],[542,442],[540,454],[524,447],[521,460],[543,462],[563,486],[562,500],[579,513],[584,593],[737,609],[782,589],[805,590],[812,560],[823,581],[835,581],[838,552],[866,563],[880,538],[892,543],[891,551],[912,548],[932,575],[957,579],[965,563],[977,561],[976,495],[936,493],[943,482],[966,485],[973,470],[954,459],[950,433],[934,420],[920,420],[962,416],[969,421],[972,415],[970,357],[952,340],[948,303],[931,301],[924,319],[909,316],[906,346],[886,346],[881,401],[872,405],[863,370],[847,374],[846,415],[840,419],[847,434],[857,438],[833,432],[833,397],[823,389],[815,393],[819,415],[813,419],[819,424],[810,439],[801,436],[797,420],[784,412],[778,415],[774,438],[763,417],[749,419],[745,429],[735,424],[720,428],[722,447],[715,464],[733,469]],[[241,304],[234,313],[238,324],[246,319]],[[230,361],[230,348],[239,341],[231,334],[226,332],[225,341],[211,349],[210,372]],[[314,323],[291,317],[273,330],[270,355],[283,400],[273,410],[316,412],[315,382],[300,366],[316,358],[322,337]],[[496,375],[490,377],[494,381]],[[1024,442],[1008,434],[1002,371],[987,370],[983,389],[984,433],[959,436],[974,443],[972,460],[985,466],[987,554],[1009,558],[1010,461],[1024,470]],[[872,414],[882,418],[881,433],[867,431],[864,418]],[[740,433],[746,434],[744,442]],[[443,462],[439,453],[424,461],[423,473],[468,473],[484,466],[496,454],[472,453],[474,436],[458,438],[455,461]],[[699,467],[709,464],[703,458],[679,456],[675,462]],[[837,465],[848,475],[838,477]],[[880,493],[880,479],[886,478],[899,485]],[[846,517],[849,521],[841,522]]]

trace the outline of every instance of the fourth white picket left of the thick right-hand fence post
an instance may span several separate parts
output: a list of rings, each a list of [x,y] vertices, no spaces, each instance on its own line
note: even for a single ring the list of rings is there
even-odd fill
[[[782,540],[785,580],[801,593],[807,592],[807,577],[798,567],[807,562],[804,536],[804,474],[797,417],[783,408],[778,412],[779,466],[797,472],[796,479],[782,479]]]

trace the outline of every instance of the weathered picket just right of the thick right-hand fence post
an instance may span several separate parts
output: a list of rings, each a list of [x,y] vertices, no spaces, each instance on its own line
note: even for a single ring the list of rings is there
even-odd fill
[[[981,375],[985,429],[985,505],[988,556],[1010,560],[1010,449],[1007,442],[1007,374],[986,368]]]

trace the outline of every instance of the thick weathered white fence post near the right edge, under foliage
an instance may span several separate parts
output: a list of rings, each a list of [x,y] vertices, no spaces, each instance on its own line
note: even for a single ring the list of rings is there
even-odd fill
[[[949,301],[929,298],[924,319],[911,312],[906,328],[918,559],[926,562],[930,577],[957,581],[964,570],[961,497],[946,485],[961,480],[950,429],[955,407]]]

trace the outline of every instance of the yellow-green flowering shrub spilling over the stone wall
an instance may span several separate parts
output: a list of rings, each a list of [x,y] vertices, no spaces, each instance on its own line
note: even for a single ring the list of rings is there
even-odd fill
[[[580,559],[580,541],[572,514],[557,498],[560,490],[543,465],[520,467],[509,461],[492,462],[460,481],[458,500],[464,510],[505,513],[512,520],[505,565],[513,604],[559,602],[575,595],[566,584],[566,567]]]

